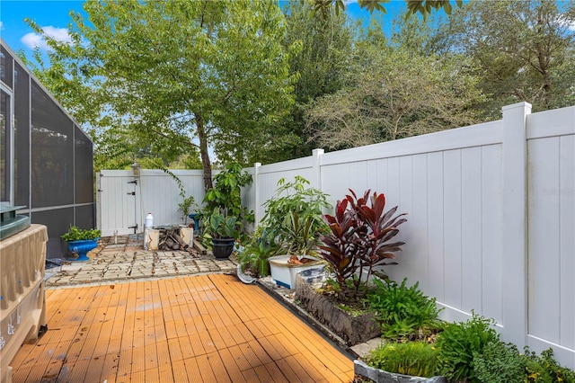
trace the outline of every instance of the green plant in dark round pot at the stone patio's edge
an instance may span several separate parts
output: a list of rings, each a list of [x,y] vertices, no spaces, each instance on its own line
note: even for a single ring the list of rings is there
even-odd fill
[[[204,238],[211,239],[216,258],[227,258],[234,251],[234,241],[240,236],[242,223],[233,216],[225,216],[219,209],[209,215],[204,225]]]

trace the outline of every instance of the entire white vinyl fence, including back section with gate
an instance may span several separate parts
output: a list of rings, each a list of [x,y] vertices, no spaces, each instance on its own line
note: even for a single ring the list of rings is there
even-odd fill
[[[465,320],[472,310],[492,317],[505,341],[535,352],[553,347],[557,361],[575,369],[575,107],[530,111],[520,102],[504,107],[498,121],[256,164],[247,169],[254,183],[243,200],[260,219],[278,180],[295,175],[333,204],[348,189],[385,192],[388,209],[408,213],[399,264],[386,268],[391,278],[419,281],[444,307],[444,319]],[[147,211],[155,224],[180,221],[169,176],[143,170],[135,202],[124,191],[134,180],[129,174],[100,176],[102,189],[107,178],[128,177],[115,186],[113,203],[104,202],[110,191],[100,193],[104,235],[125,230],[119,216],[130,203],[139,228]],[[200,201],[201,173],[177,174]],[[116,227],[105,227],[112,222]]]

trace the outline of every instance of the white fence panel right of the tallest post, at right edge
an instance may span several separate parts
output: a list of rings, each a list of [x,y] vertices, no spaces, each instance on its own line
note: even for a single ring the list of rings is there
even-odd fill
[[[575,366],[575,108],[527,120],[528,344]]]

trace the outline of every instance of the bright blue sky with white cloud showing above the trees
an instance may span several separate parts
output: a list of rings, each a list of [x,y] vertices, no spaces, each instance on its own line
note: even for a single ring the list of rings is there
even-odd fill
[[[40,36],[23,22],[30,18],[37,22],[45,31],[58,40],[66,40],[67,25],[71,22],[70,11],[84,13],[84,1],[70,0],[0,0],[0,35],[14,51],[23,49],[28,55],[31,49],[39,46],[45,49],[45,43]],[[385,5],[387,14],[377,14],[373,17],[384,17],[390,21],[405,10],[403,0],[392,0]],[[367,11],[359,9],[356,2],[349,2],[347,12],[355,18],[368,20],[372,17]]]

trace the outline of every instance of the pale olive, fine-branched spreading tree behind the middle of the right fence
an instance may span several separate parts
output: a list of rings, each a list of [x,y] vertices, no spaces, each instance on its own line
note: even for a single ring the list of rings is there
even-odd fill
[[[420,38],[409,31],[417,24],[405,25],[392,41],[372,30],[358,42],[349,85],[308,111],[307,129],[323,147],[364,146],[477,121],[472,106],[482,94],[461,71],[465,59],[424,53],[420,43],[421,52],[413,49]]]

